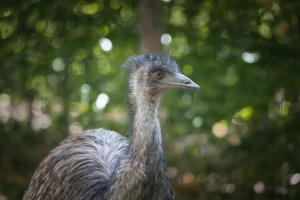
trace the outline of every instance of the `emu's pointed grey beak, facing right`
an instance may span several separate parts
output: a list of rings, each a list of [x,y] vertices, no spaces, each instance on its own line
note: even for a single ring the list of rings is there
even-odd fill
[[[173,87],[181,87],[187,89],[200,89],[200,86],[194,83],[191,79],[181,73],[174,73],[173,79],[168,82]]]

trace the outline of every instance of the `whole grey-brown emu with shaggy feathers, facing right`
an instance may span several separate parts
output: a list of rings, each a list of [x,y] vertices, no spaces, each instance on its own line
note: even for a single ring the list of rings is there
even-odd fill
[[[168,88],[200,87],[165,54],[127,58],[129,138],[103,128],[63,140],[36,168],[23,200],[174,199],[157,112]]]

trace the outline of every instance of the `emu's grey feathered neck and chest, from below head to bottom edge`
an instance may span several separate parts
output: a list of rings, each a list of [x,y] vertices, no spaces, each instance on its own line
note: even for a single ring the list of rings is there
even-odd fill
[[[130,82],[130,145],[112,175],[107,199],[169,199],[170,184],[157,109],[159,92]]]

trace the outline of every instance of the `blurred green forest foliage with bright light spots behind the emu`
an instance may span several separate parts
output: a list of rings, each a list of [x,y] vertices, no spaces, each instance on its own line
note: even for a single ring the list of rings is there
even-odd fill
[[[168,91],[160,108],[176,199],[299,199],[300,1],[160,3],[163,48],[201,86]],[[68,135],[126,132],[119,66],[139,53],[139,10],[0,2],[0,199],[21,199]]]

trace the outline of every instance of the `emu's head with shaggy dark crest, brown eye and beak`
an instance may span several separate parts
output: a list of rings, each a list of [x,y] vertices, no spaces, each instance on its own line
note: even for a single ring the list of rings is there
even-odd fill
[[[125,61],[123,67],[130,69],[129,87],[133,94],[155,96],[168,88],[200,88],[180,73],[176,62],[166,54],[133,55]]]

